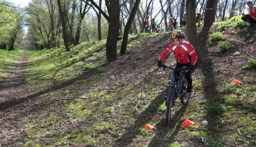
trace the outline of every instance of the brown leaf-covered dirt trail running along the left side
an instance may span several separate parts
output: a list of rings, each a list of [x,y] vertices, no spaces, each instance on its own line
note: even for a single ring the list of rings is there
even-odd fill
[[[23,53],[16,70],[9,71],[8,77],[0,81],[0,147],[20,146],[22,138],[28,135],[21,121],[29,101],[19,103],[30,94],[25,82],[26,57]]]

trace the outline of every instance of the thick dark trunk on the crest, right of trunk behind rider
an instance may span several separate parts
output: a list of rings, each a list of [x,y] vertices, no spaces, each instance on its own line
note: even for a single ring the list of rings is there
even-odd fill
[[[205,9],[205,16],[204,16],[204,28],[212,26],[213,22],[215,21],[215,9],[218,0],[208,0]]]

